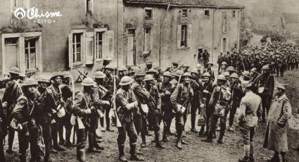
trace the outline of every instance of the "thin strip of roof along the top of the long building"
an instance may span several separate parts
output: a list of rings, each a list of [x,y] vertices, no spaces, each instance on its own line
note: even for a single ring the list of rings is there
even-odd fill
[[[171,6],[194,6],[208,8],[244,8],[227,0],[124,0],[129,4],[169,4]]]

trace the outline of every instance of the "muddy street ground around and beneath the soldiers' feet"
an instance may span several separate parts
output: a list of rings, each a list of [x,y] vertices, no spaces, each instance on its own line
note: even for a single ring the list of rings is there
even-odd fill
[[[288,89],[286,95],[291,100],[293,106],[293,113],[298,108],[299,98],[299,70],[293,70],[286,72],[285,77],[276,77],[276,80],[279,82],[287,83]],[[189,132],[190,130],[190,116],[188,118],[188,123],[186,124],[186,142],[189,142],[189,145],[183,145],[183,149],[179,150],[175,145],[175,137],[170,136],[170,141],[163,143],[166,149],[156,149],[155,145],[151,143],[153,137],[147,137],[148,147],[144,149],[144,158],[146,161],[238,161],[238,158],[243,157],[243,142],[241,134],[236,128],[235,132],[226,132],[224,137],[224,144],[217,144],[215,140],[212,144],[207,144],[201,142],[201,137],[198,137],[195,133]],[[294,120],[295,118],[293,118]],[[297,119],[299,120],[299,119]],[[294,127],[296,125],[293,125]],[[262,144],[264,140],[265,133],[265,123],[259,123],[257,131],[255,134],[255,159],[256,161],[265,161],[266,159],[272,156],[272,151],[262,149]],[[163,126],[161,125],[163,129]],[[87,154],[88,161],[117,161],[117,129],[113,127],[115,132],[101,132],[98,130],[98,133],[103,136],[103,142],[101,146],[105,147],[105,150],[101,154]],[[172,122],[172,132],[175,132],[174,120]],[[153,134],[153,132],[152,132]],[[219,132],[217,132],[217,135]],[[299,146],[299,133],[298,130],[290,130],[288,136],[289,143],[289,152],[288,159],[289,161],[299,161],[299,152],[293,151],[291,148]],[[7,138],[6,138],[7,139]],[[11,155],[6,157],[8,161],[18,161],[18,140],[17,135],[15,135],[15,142],[13,151]],[[140,140],[140,139],[139,139]],[[129,144],[128,138],[125,146],[125,154],[129,158]],[[138,146],[140,146],[140,141]],[[6,140],[7,147],[7,140]],[[59,154],[52,154],[51,157],[54,161],[76,161],[76,151],[75,148],[68,149],[65,152]],[[30,159],[30,151],[28,149],[28,160]],[[1,161],[1,160],[0,160]]]

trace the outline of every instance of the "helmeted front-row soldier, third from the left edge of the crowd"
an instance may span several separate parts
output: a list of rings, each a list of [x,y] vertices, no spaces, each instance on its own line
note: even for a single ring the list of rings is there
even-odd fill
[[[56,110],[54,109],[56,104],[53,98],[53,92],[49,89],[51,85],[51,80],[49,80],[46,76],[40,75],[37,78],[37,83],[39,87],[37,87],[36,95],[37,95],[37,106],[40,110],[42,110],[40,121],[42,125],[42,135],[44,137],[44,145],[45,145],[45,156],[44,161],[50,162],[52,159],[50,158],[50,149],[51,149],[51,120],[53,116],[56,116]]]

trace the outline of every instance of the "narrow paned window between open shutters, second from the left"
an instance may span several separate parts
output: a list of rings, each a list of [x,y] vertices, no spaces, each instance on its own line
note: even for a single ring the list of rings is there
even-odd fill
[[[81,45],[82,33],[72,34],[72,62],[81,62],[82,45]]]

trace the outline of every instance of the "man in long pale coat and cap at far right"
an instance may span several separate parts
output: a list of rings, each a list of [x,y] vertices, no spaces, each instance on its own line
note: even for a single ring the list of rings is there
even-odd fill
[[[274,151],[271,162],[279,161],[279,153],[282,161],[287,161],[288,151],[288,120],[292,115],[290,100],[285,94],[286,86],[277,83],[275,88],[276,98],[272,101],[267,118],[267,130],[264,148]]]

